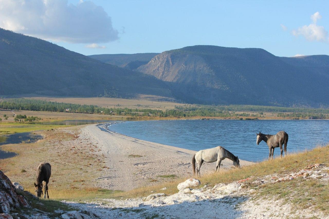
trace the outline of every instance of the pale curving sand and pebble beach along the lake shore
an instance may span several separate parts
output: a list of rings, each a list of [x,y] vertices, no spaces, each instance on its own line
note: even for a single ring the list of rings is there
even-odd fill
[[[191,157],[195,151],[139,140],[106,129],[110,123],[89,125],[81,130],[80,139],[97,145],[105,155],[106,166],[97,185],[108,189],[130,190],[151,185],[152,180],[165,181],[159,176],[174,174],[177,177],[193,176]],[[132,157],[139,155],[142,157]],[[225,159],[221,168],[231,168],[232,161]],[[252,162],[240,160],[240,165]],[[201,174],[213,172],[215,163],[204,163]]]

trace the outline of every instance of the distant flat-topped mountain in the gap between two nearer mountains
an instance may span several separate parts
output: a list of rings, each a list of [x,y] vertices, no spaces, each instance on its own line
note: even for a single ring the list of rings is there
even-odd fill
[[[141,65],[147,64],[159,53],[136,53],[136,54],[100,54],[90,55],[90,58],[97,59],[107,64],[116,65],[126,69],[134,70]]]

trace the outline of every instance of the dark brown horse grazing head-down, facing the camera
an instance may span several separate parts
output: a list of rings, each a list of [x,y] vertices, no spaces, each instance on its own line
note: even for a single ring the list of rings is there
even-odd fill
[[[51,175],[51,166],[49,163],[40,163],[37,169],[37,183],[34,183],[34,186],[36,187],[36,196],[38,198],[41,197],[42,194],[42,182],[46,182],[44,186],[44,197],[46,198],[46,193],[47,193],[47,198],[49,199],[49,194],[48,194],[48,182],[49,178]]]

